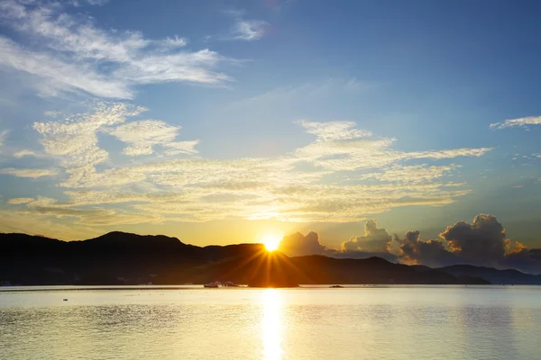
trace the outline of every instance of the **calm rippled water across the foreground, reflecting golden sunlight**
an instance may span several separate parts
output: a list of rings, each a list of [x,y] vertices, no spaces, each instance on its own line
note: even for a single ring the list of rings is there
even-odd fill
[[[541,287],[0,292],[2,359],[539,359],[540,340]]]

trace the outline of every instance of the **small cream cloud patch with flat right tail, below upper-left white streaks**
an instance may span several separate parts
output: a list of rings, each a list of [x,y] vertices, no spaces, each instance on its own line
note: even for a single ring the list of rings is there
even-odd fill
[[[198,140],[177,142],[179,126],[170,126],[163,121],[134,121],[108,130],[111,135],[131,144],[124,148],[128,156],[151,155],[158,145],[170,148],[168,155],[197,154],[194,148]]]

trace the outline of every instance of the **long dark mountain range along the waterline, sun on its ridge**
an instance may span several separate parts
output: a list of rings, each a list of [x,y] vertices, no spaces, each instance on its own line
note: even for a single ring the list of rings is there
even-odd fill
[[[541,275],[478,266],[406,266],[380,257],[287,257],[262,244],[196,247],[110,232],[82,241],[0,234],[0,282],[19,285],[541,284]]]

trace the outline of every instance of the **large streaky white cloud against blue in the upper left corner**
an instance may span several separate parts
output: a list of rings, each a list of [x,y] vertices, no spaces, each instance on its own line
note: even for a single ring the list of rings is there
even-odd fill
[[[82,91],[106,98],[133,98],[133,85],[187,82],[220,85],[231,78],[216,72],[228,61],[215,51],[184,49],[175,36],[144,38],[136,31],[104,31],[87,17],[63,12],[60,4],[0,4],[0,21],[29,35],[33,49],[0,37],[0,66],[37,76],[45,95]]]

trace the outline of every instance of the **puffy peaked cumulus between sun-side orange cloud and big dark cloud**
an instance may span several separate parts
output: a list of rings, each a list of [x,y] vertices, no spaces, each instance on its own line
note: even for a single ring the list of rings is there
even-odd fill
[[[355,236],[341,245],[343,252],[364,251],[384,253],[390,243],[390,235],[385,229],[378,228],[378,221],[367,220],[364,224],[364,235]]]

